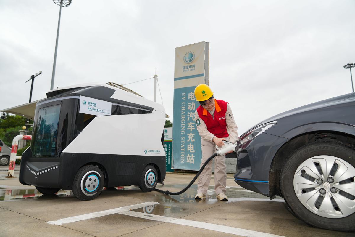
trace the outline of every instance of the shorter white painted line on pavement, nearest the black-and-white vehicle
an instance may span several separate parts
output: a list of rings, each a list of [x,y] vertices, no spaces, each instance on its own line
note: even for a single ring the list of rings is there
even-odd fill
[[[92,219],[95,217],[116,214],[116,213],[120,213],[123,211],[129,211],[132,209],[144,208],[146,206],[155,205],[155,204],[159,204],[159,203],[157,203],[155,201],[148,201],[146,203],[140,203],[140,204],[135,204],[135,205],[130,205],[130,206],[122,206],[121,208],[114,208],[114,209],[105,210],[105,211],[98,211],[98,212],[93,212],[93,213],[84,214],[84,215],[80,215],[80,216],[72,216],[72,217],[67,217],[64,219],[59,219],[56,221],[48,221],[47,223],[52,224],[52,225],[62,225],[65,223],[71,223],[71,222],[76,222],[76,221]]]

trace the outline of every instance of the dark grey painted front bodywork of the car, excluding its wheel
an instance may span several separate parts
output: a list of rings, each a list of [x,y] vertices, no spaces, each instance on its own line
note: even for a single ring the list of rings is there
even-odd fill
[[[299,135],[316,131],[355,135],[354,111],[355,93],[349,93],[286,111],[257,124],[253,128],[277,122],[243,145],[237,141],[240,149],[237,151],[235,182],[269,196],[269,172],[280,147]]]

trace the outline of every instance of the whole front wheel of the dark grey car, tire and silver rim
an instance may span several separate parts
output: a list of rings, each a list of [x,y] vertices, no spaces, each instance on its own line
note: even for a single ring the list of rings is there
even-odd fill
[[[300,147],[280,175],[286,204],[312,226],[354,231],[354,167],[355,151],[348,146],[323,141]]]

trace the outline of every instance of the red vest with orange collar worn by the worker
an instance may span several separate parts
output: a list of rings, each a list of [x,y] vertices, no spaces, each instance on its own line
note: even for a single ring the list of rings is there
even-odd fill
[[[217,138],[228,138],[227,124],[225,122],[225,113],[227,112],[228,102],[222,99],[214,99],[214,117],[202,106],[198,106],[198,116],[207,126],[207,130]]]

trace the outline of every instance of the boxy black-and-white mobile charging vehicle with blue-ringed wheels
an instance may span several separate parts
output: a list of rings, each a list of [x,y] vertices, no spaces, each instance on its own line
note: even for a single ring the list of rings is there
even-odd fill
[[[43,194],[73,190],[80,200],[103,187],[149,192],[163,182],[164,107],[122,88],[110,82],[47,92],[36,104],[20,182]]]

